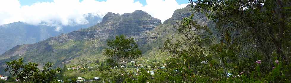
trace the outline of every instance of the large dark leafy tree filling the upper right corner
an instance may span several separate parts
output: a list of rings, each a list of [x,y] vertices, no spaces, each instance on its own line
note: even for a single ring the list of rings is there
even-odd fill
[[[255,47],[270,63],[271,54],[290,61],[290,0],[190,0],[194,10],[213,20],[221,43]],[[243,38],[244,37],[244,38]],[[238,39],[239,38],[239,39]],[[243,38],[243,39],[241,39]],[[241,39],[241,40],[240,40]],[[230,46],[230,45],[228,45]],[[289,63],[289,62],[288,62]],[[271,68],[269,68],[271,69]]]

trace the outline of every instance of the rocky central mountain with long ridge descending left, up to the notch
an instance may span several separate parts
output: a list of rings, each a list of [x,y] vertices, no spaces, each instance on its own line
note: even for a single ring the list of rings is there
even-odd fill
[[[102,23],[88,29],[61,34],[35,44],[13,47],[0,55],[0,65],[2,66],[0,70],[3,69],[5,61],[19,57],[23,57],[26,62],[38,63],[39,67],[47,61],[55,63],[54,66],[58,67],[64,63],[74,63],[74,60],[80,60],[79,58],[102,57],[101,51],[106,47],[105,41],[108,38],[125,34],[136,40],[155,39],[156,37],[147,32],[154,30],[159,24],[161,24],[159,19],[153,18],[141,10],[123,15],[109,12]],[[148,42],[150,41],[142,41],[142,43]],[[3,73],[3,71],[0,72]]]

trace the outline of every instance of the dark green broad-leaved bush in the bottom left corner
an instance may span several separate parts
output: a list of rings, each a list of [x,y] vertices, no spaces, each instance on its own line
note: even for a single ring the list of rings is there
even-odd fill
[[[60,74],[61,69],[52,69],[52,63],[46,63],[41,71],[37,68],[38,64],[29,62],[23,63],[23,58],[6,62],[7,68],[5,71],[9,72],[19,83],[49,83],[56,79],[56,75]]]

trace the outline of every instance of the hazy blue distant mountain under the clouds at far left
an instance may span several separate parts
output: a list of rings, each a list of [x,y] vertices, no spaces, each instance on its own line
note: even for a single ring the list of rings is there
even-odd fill
[[[102,18],[94,16],[92,13],[84,16],[86,16],[86,20],[88,21],[87,24],[61,26],[62,30],[60,31],[55,31],[55,27],[47,25],[30,25],[25,22],[0,25],[0,54],[16,45],[33,44],[61,33],[69,33],[79,30],[80,28],[88,28],[102,20]]]

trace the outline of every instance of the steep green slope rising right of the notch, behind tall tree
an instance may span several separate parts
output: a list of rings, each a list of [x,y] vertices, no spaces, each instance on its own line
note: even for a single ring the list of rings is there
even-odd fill
[[[215,24],[211,20],[208,20],[204,14],[200,12],[193,12],[193,10],[191,9],[192,8],[190,7],[190,5],[187,5],[182,9],[176,9],[172,17],[167,19],[165,22],[163,22],[163,24],[157,26],[153,31],[150,32],[155,34],[155,36],[157,36],[157,39],[155,39],[151,43],[143,44],[142,46],[140,46],[140,49],[143,50],[145,58],[165,60],[165,57],[167,56],[159,56],[164,54],[160,51],[160,48],[163,47],[167,39],[172,39],[173,41],[175,41],[176,39],[181,38],[182,35],[178,34],[176,29],[173,27],[177,25],[176,22],[181,22],[183,18],[190,17],[192,14],[194,14],[192,19],[197,21],[198,24],[206,25],[212,32],[215,32]],[[213,33],[213,36],[214,35],[215,33]]]

